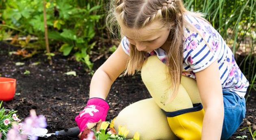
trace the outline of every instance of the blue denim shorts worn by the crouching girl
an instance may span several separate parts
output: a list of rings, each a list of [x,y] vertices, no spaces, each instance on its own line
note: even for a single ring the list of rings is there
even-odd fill
[[[223,90],[224,120],[221,140],[228,140],[245,118],[245,98],[239,97],[232,91]]]

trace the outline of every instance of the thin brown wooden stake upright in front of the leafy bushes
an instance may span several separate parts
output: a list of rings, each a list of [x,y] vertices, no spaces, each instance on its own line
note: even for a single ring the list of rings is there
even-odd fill
[[[44,35],[46,39],[46,51],[48,57],[50,57],[50,65],[52,65],[52,57],[50,56],[50,48],[49,48],[49,41],[48,41],[48,28],[47,28],[47,18],[46,18],[46,0],[43,0],[43,22],[44,22]]]

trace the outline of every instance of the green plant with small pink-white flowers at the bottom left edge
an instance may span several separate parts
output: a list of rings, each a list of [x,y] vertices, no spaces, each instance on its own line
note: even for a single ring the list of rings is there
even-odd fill
[[[2,101],[0,103],[0,108],[2,106]],[[7,132],[12,127],[12,123],[20,122],[18,116],[15,114],[15,110],[7,110],[4,107],[0,109],[0,134],[2,134],[2,139],[6,138]],[[1,139],[1,138],[0,138]]]

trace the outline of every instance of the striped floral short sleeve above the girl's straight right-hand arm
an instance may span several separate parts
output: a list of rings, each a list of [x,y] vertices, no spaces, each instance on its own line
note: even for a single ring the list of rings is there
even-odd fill
[[[211,36],[203,39],[198,33],[191,34],[184,41],[184,62],[194,73],[206,69],[218,58],[218,44]]]

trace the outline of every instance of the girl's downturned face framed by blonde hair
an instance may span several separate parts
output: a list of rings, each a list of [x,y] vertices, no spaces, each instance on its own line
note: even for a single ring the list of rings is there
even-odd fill
[[[121,26],[121,30],[128,41],[136,46],[138,51],[152,52],[161,47],[168,52],[169,49],[166,46],[166,40],[170,30],[163,26],[160,27],[161,25],[162,23],[157,20],[141,29]]]

